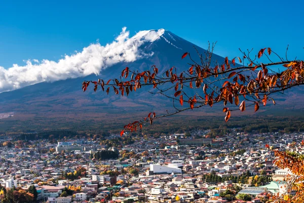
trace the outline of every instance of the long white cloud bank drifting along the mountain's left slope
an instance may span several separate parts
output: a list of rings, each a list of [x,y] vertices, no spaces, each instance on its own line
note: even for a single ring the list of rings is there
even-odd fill
[[[11,91],[40,82],[54,82],[68,78],[98,75],[101,70],[118,62],[132,62],[146,56],[139,50],[146,39],[129,38],[126,27],[111,44],[98,42],[85,47],[82,52],[65,55],[59,61],[27,60],[26,65],[4,69],[0,66],[0,92]],[[32,63],[33,62],[33,63]]]

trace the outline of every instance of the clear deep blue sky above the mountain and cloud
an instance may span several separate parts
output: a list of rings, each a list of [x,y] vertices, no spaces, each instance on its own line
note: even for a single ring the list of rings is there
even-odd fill
[[[130,35],[165,28],[202,48],[234,57],[238,48],[271,47],[290,58],[303,55],[301,1],[3,1],[0,66],[26,59],[58,60],[99,39],[112,42],[126,26]]]

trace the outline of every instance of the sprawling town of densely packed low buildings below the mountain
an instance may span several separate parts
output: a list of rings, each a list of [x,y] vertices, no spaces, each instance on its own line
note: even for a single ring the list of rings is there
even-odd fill
[[[208,130],[142,136],[127,145],[98,138],[58,142],[0,137],[2,202],[266,202],[290,172],[265,147],[304,154],[304,133]],[[126,136],[126,135],[123,135]],[[112,141],[112,142],[111,142]]]

